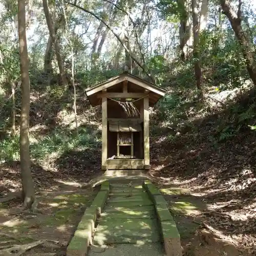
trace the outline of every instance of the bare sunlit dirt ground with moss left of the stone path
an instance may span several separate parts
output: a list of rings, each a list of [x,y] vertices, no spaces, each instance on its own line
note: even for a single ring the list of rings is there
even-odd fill
[[[22,255],[65,255],[75,227],[96,193],[96,189],[81,189],[74,182],[40,189],[36,214],[25,211],[19,199],[0,204],[0,249],[42,241]],[[13,252],[0,255],[17,255],[18,251]]]

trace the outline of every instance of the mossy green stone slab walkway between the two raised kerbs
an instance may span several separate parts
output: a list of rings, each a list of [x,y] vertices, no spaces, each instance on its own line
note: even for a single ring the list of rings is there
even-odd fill
[[[100,246],[110,246],[101,253],[102,256],[111,253],[160,256],[164,255],[161,242],[154,204],[141,182],[111,183],[89,255],[96,255],[95,248],[97,251]],[[152,249],[145,251],[143,247]]]

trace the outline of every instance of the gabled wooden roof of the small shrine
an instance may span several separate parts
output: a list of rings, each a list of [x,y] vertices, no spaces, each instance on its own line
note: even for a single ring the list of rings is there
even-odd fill
[[[150,93],[150,105],[154,105],[159,98],[163,97],[166,93],[166,91],[155,84],[145,81],[141,79],[140,77],[137,77],[135,75],[132,75],[130,73],[122,73],[120,75],[117,75],[115,77],[112,77],[108,80],[105,80],[101,83],[96,84],[95,86],[92,86],[88,89],[86,89],[86,95],[90,101],[90,103],[95,106],[101,103],[100,100],[97,100],[97,94],[100,93],[102,90],[111,88],[116,86],[117,84],[123,82],[124,80],[127,80],[135,86],[144,88],[149,91]],[[152,96],[152,97],[151,97]]]

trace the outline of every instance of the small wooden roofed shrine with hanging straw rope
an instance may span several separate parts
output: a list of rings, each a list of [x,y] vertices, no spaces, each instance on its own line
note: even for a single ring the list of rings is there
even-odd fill
[[[165,90],[123,73],[86,90],[102,104],[102,169],[150,169],[149,107]]]

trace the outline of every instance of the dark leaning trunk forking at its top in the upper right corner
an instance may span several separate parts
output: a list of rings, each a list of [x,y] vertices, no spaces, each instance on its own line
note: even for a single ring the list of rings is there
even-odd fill
[[[223,10],[223,13],[228,17],[231,27],[236,34],[236,37],[239,41],[239,44],[242,48],[243,56],[246,60],[246,68],[249,73],[249,76],[256,86],[256,64],[254,61],[254,49],[252,49],[252,44],[250,44],[249,39],[246,35],[246,32],[243,31],[241,26],[241,0],[239,1],[238,14],[236,14],[227,3],[226,0],[220,0],[220,4]]]

